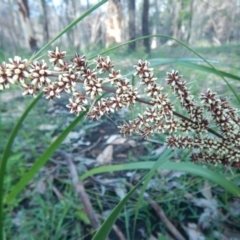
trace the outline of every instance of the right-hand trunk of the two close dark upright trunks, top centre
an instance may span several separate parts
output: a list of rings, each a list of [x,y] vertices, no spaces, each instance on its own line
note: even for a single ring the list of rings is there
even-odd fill
[[[149,21],[148,21],[148,12],[149,12],[149,0],[143,0],[143,11],[142,11],[142,35],[149,35]],[[150,39],[146,38],[143,40],[143,45],[147,53],[150,53]]]

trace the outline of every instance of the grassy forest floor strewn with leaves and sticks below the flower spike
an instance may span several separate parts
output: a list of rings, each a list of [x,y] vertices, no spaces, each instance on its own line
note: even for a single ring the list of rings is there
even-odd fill
[[[161,54],[162,57],[168,55],[167,52],[166,55]],[[180,52],[179,57],[183,54],[185,53]],[[215,59],[221,57],[217,54],[214,56]],[[126,64],[127,72],[132,62],[125,61],[122,64]],[[160,67],[163,72],[159,75],[160,79],[169,69],[169,65]],[[215,86],[220,94],[226,90],[226,86],[217,82],[215,77],[189,71],[184,66],[181,69],[189,77],[194,95],[206,89],[206,83],[209,87]],[[233,71],[237,73],[239,70]],[[193,82],[196,78],[203,79],[204,84]],[[230,94],[229,96],[231,97]],[[2,92],[0,98],[0,152],[3,152],[10,131],[32,99],[23,98],[21,92],[15,89]],[[156,161],[165,149],[162,136],[147,140],[136,135],[121,136],[118,125],[130,119],[131,115],[132,111],[126,110],[99,121],[85,119],[79,123],[62,143],[61,151],[49,159],[25,190],[6,207],[6,239],[91,239],[94,230],[83,199],[76,190],[76,183],[72,181],[74,176],[70,165],[80,178],[91,169],[103,167],[102,173],[93,174],[83,181],[79,178],[79,184],[89,197],[96,218],[103,222],[126,193],[147,173],[147,170],[120,170],[121,168],[118,171],[107,171],[107,167]],[[6,170],[6,191],[18,182],[74,118],[61,101],[48,102],[43,98],[38,102],[15,139]],[[181,161],[181,156],[176,152],[172,161]],[[221,166],[208,167],[240,186],[239,170]],[[179,231],[184,239],[190,240],[240,239],[240,199],[201,177],[179,171],[157,171],[150,180],[135,219],[139,194],[136,192],[125,206],[109,235],[110,240],[176,239],[174,230]],[[166,218],[159,216],[159,212]],[[167,224],[169,222],[172,227]]]

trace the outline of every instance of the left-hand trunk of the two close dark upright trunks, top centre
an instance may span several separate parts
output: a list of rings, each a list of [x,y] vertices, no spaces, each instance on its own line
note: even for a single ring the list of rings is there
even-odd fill
[[[136,5],[135,0],[128,0],[128,37],[129,40],[136,38],[136,27],[135,27],[135,13]],[[129,51],[136,49],[136,42],[132,42],[128,45]]]

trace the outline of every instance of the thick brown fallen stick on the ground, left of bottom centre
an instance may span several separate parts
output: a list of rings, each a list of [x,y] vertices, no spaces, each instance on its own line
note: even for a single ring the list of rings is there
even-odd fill
[[[82,182],[79,181],[76,167],[73,164],[73,162],[70,158],[70,155],[62,150],[58,150],[58,153],[60,153],[67,160],[68,168],[70,171],[70,175],[71,175],[75,190],[78,193],[78,195],[83,203],[84,211],[87,214],[87,216],[92,224],[92,227],[95,230],[97,230],[99,228],[99,221],[94,213],[94,210],[93,210],[92,204],[89,200],[89,197],[88,197],[87,193],[85,192],[84,186],[83,186]]]

